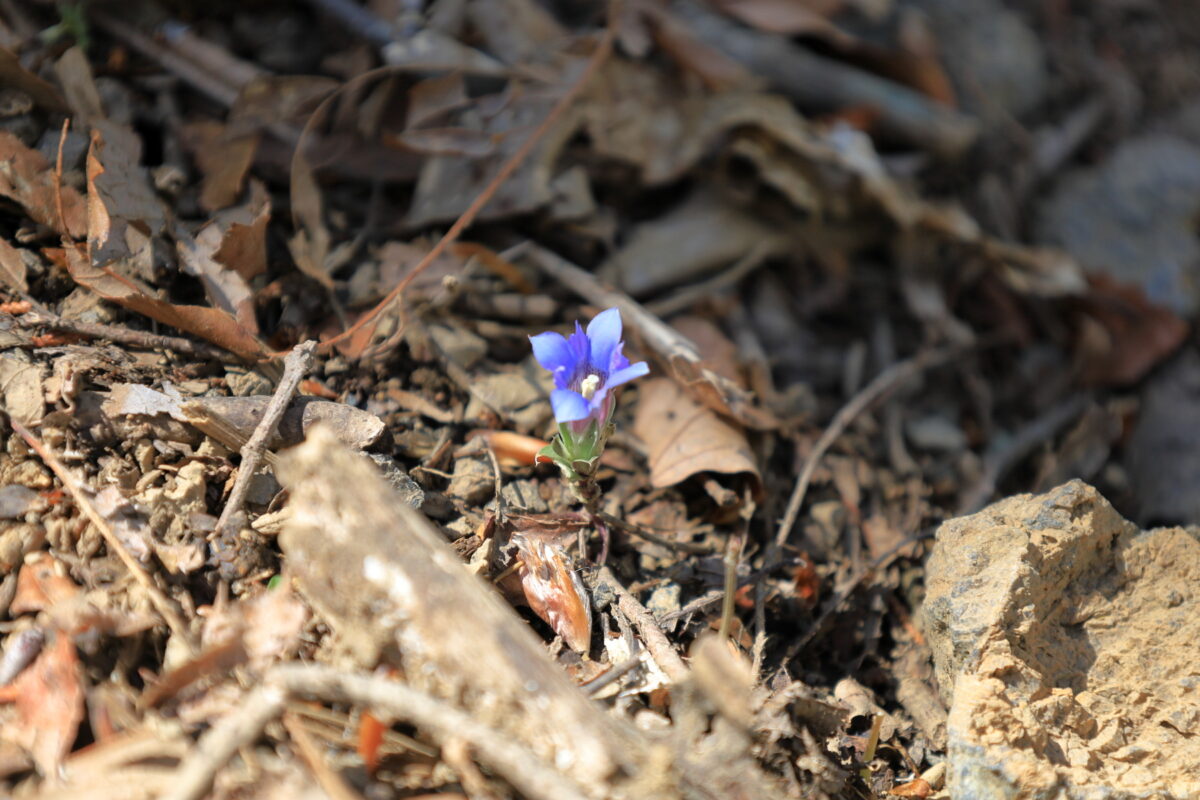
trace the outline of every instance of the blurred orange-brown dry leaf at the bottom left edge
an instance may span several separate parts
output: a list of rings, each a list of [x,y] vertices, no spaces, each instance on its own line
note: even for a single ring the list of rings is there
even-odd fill
[[[84,686],[71,637],[55,631],[10,687],[17,721],[0,736],[24,747],[44,776],[58,776],[84,715]],[[6,692],[8,694],[10,692]]]

